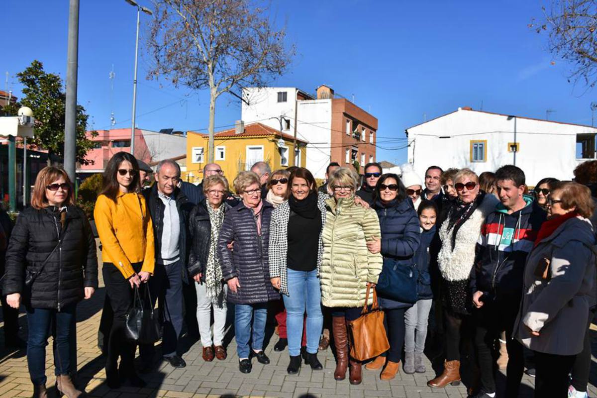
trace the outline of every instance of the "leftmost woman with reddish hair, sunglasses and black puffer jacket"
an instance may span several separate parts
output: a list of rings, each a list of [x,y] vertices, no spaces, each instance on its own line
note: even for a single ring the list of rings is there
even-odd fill
[[[39,172],[30,208],[17,218],[6,254],[4,294],[8,305],[27,310],[27,365],[33,397],[45,397],[45,346],[56,325],[54,363],[59,390],[76,397],[70,379],[71,325],[76,303],[97,289],[96,240],[84,212],[74,204],[73,187],[63,169]],[[27,283],[27,275],[33,276]]]

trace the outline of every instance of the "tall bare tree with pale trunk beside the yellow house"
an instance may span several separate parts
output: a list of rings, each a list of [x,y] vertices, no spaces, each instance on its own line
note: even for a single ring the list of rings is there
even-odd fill
[[[217,98],[224,92],[241,98],[235,90],[263,87],[287,70],[295,54],[294,46],[284,44],[285,30],[273,29],[266,11],[248,0],[155,0],[148,50],[156,65],[148,77],[209,88],[209,162]]]

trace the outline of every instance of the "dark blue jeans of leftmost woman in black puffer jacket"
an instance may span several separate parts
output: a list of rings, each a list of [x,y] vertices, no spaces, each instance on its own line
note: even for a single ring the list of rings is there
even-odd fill
[[[64,307],[60,312],[45,308],[27,308],[27,366],[35,385],[45,384],[45,347],[48,345],[50,326],[56,324],[56,348],[54,349],[54,374],[70,373],[70,339],[76,304]]]

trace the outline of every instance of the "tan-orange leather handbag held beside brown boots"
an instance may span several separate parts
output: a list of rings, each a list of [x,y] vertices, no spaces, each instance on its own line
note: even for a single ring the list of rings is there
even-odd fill
[[[351,347],[350,356],[356,360],[367,360],[378,356],[389,350],[390,343],[387,341],[386,329],[383,327],[384,313],[377,304],[377,292],[373,288],[373,304],[371,310],[367,309],[369,292],[367,287],[365,295],[365,307],[361,316],[349,323]]]

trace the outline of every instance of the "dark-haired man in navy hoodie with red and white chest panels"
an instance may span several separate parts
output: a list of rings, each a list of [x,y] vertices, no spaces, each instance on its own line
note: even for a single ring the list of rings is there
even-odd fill
[[[494,342],[506,331],[508,351],[506,397],[517,397],[524,371],[522,345],[512,338],[522,298],[527,255],[546,215],[524,195],[525,175],[516,166],[496,171],[500,203],[481,227],[470,289],[477,320],[475,343],[481,369],[479,398],[494,397],[496,381],[492,356]]]

